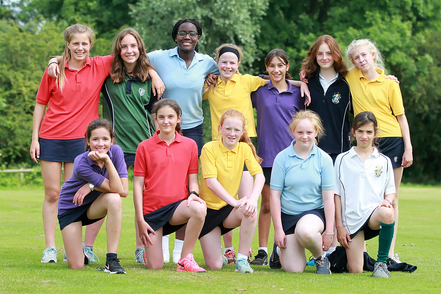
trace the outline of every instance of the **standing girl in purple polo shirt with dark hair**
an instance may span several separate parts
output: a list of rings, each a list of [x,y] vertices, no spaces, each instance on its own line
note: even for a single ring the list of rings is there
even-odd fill
[[[288,56],[282,49],[273,49],[265,58],[265,67],[271,81],[251,93],[251,102],[257,110],[258,156],[263,158],[262,170],[265,185],[259,211],[259,249],[250,264],[268,264],[268,236],[271,226],[269,210],[269,182],[274,158],[289,146],[294,139],[287,130],[292,115],[304,108],[300,89],[290,84],[288,79]]]

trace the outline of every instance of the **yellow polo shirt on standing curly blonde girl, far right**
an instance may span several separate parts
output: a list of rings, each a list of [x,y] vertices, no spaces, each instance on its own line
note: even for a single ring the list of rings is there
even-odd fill
[[[403,137],[396,115],[404,114],[403,97],[400,86],[392,79],[385,78],[383,70],[372,81],[358,68],[352,68],[346,75],[351,88],[354,115],[360,112],[373,112],[381,129],[378,137]]]

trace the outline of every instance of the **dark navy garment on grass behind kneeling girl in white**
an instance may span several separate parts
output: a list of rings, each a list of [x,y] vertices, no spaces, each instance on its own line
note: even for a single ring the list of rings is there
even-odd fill
[[[348,257],[346,256],[346,250],[342,246],[337,246],[335,251],[328,256],[329,263],[331,264],[331,272],[342,273],[348,272],[346,268],[346,263],[348,262]],[[363,252],[363,271],[373,272],[374,271],[374,258],[370,257],[367,252]],[[387,266],[389,272],[415,272],[416,265],[407,264],[405,262],[400,262],[398,264],[391,264]]]

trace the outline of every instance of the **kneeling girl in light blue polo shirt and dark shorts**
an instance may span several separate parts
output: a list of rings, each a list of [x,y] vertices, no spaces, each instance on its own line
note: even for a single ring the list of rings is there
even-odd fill
[[[269,267],[303,272],[308,249],[314,256],[316,273],[329,275],[330,265],[323,250],[329,249],[334,234],[333,162],[317,147],[316,137],[320,139],[324,132],[315,112],[297,112],[290,130],[295,140],[277,154],[271,173],[275,232]]]

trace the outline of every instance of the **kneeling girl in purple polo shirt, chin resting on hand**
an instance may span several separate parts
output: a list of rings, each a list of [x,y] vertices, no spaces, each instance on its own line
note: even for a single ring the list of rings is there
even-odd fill
[[[116,251],[120,241],[122,205],[127,197],[127,167],[123,150],[112,145],[112,123],[95,119],[85,134],[86,152],[74,161],[72,176],[64,182],[58,201],[58,222],[63,236],[67,266],[73,269],[89,264],[84,251],[82,226],[107,216],[107,259],[105,272],[125,274]]]

